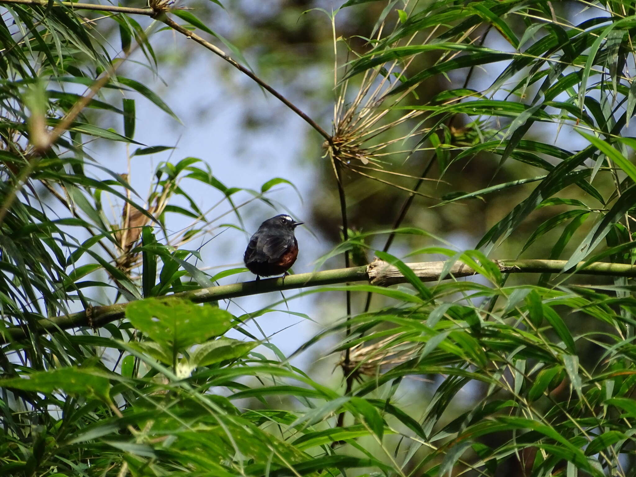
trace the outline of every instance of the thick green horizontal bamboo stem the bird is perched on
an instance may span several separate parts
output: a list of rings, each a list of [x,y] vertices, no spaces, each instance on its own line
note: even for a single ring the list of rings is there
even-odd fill
[[[431,261],[421,263],[407,263],[406,265],[415,272],[423,282],[434,282],[436,280],[467,277],[476,275],[472,268],[463,263],[455,263],[448,275],[440,277],[443,271],[444,261]],[[565,260],[494,260],[502,273],[562,273]],[[581,268],[583,262],[577,264],[576,273],[583,275],[605,275],[612,277],[636,278],[636,265],[625,263],[593,262],[585,268]],[[579,269],[580,268],[580,269]],[[570,272],[570,271],[568,271]],[[405,283],[408,280],[392,265],[375,259],[368,266],[355,266],[352,268],[338,268],[336,270],[325,270],[324,272],[300,273],[290,275],[285,279],[273,278],[252,282],[242,282],[230,285],[202,288],[192,291],[183,291],[169,295],[168,298],[182,298],[193,303],[208,303],[210,301],[228,300],[239,296],[248,296],[272,291],[291,290],[304,287],[324,286],[336,283],[363,282],[368,281],[377,286],[391,286]],[[27,326],[11,326],[0,329],[0,343],[7,343],[13,340],[21,340],[29,335],[29,331],[36,335],[53,333],[62,329],[93,326],[99,328],[107,323],[121,319],[125,316],[128,303],[116,303],[104,307],[90,308],[88,311],[73,313],[43,319],[38,322],[39,328],[31,329]]]

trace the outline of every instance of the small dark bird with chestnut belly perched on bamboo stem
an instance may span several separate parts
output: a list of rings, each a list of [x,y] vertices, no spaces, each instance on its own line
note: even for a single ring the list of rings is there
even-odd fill
[[[294,236],[294,229],[304,222],[296,222],[286,214],[281,214],[259,226],[252,238],[249,239],[243,261],[247,269],[261,277],[283,275],[294,265],[298,257],[298,240]]]

